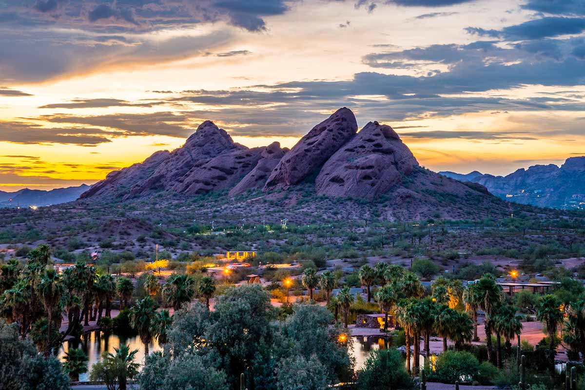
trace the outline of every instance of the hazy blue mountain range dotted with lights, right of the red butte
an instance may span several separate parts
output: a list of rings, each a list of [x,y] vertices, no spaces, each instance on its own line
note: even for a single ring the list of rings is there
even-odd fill
[[[483,185],[508,201],[557,209],[585,209],[585,157],[567,158],[565,164],[532,165],[507,176],[473,171],[439,172],[446,177]]]

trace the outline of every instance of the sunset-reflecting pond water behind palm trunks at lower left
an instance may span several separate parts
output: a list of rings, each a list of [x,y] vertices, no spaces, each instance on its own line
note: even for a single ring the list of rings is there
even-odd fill
[[[59,358],[63,360],[65,353],[69,348],[81,348],[88,357],[88,368],[91,370],[91,366],[101,359],[102,353],[108,351],[113,353],[114,348],[119,348],[121,344],[128,344],[130,351],[138,350],[136,353],[136,362],[141,365],[144,364],[144,344],[140,341],[138,336],[124,337],[117,336],[116,334],[104,334],[103,332],[95,331],[85,333],[81,336],[81,340],[70,340],[63,343],[59,349]],[[156,339],[149,344],[149,354],[154,351],[160,351],[161,347]],[[86,374],[80,375],[80,381],[89,380],[89,371]]]

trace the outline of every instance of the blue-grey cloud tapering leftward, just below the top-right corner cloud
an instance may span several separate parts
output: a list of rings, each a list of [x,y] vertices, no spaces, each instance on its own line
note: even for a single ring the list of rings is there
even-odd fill
[[[504,27],[501,30],[486,30],[480,27],[467,27],[468,33],[480,36],[503,38],[505,40],[541,39],[567,34],[579,34],[585,30],[585,18],[566,18],[546,16],[529,20],[519,25]]]

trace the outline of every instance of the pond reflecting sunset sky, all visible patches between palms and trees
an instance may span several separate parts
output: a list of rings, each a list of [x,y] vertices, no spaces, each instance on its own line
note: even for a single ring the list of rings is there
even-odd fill
[[[352,337],[352,347],[350,348],[356,360],[355,369],[359,370],[364,366],[370,351],[378,349],[386,349],[391,347],[391,339],[386,340],[383,337]],[[69,348],[81,348],[88,357],[88,368],[91,369],[92,365],[98,363],[104,351],[113,353],[114,348],[118,348],[121,344],[128,344],[130,350],[138,350],[136,353],[136,362],[144,364],[144,344],[140,341],[138,336],[134,337],[123,337],[116,334],[104,334],[103,332],[94,331],[85,333],[81,340],[70,340],[63,343],[63,346],[59,349],[59,358],[63,360],[65,353]],[[156,339],[149,344],[149,353],[154,351],[160,351],[162,348]],[[411,364],[414,358],[411,358]],[[424,364],[424,356],[421,356],[421,365]],[[88,381],[89,372],[87,374],[80,375],[80,381]]]

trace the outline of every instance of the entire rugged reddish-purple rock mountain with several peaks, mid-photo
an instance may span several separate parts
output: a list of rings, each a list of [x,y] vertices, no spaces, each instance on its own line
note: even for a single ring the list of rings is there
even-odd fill
[[[182,147],[111,172],[81,198],[121,201],[160,191],[186,196],[229,191],[233,197],[247,191],[294,189],[312,181],[318,195],[364,199],[389,195],[395,202],[423,201],[429,194],[485,195],[482,188],[419,167],[390,126],[370,122],[356,132],[352,111],[341,108],[291,150],[276,142],[249,149],[205,121]]]

